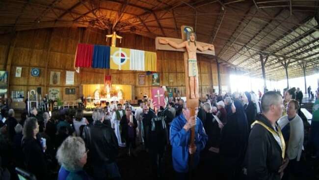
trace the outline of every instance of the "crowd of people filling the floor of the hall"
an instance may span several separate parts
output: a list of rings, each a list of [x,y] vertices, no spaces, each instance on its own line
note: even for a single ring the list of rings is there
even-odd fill
[[[218,170],[220,180],[289,180],[297,176],[304,150],[319,158],[319,101],[305,144],[308,121],[299,92],[211,94],[200,99],[195,116],[183,99],[161,107],[152,100],[136,108],[111,102],[95,109],[92,120],[82,109],[61,109],[50,117],[32,108],[19,119],[13,109],[1,111],[0,179],[18,179],[19,167],[37,180],[54,179],[56,172],[58,180],[119,180],[117,158],[125,149],[136,160],[139,150],[149,154],[154,180],[163,178],[164,161],[172,162],[178,180],[196,178],[199,164]]]

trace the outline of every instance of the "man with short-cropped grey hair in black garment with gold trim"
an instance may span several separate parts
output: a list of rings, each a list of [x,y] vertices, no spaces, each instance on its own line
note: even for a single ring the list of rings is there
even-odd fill
[[[275,91],[268,91],[261,104],[263,114],[256,116],[248,140],[247,175],[249,180],[280,180],[289,162],[277,123],[283,112],[283,99]]]

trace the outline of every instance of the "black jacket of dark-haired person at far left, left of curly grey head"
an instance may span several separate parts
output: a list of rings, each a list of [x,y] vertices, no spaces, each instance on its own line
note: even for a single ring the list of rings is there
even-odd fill
[[[27,171],[34,174],[37,180],[45,180],[48,166],[39,138],[23,139],[22,149]]]

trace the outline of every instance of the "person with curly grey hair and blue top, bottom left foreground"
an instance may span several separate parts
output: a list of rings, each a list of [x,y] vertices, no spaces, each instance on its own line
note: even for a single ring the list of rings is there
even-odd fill
[[[56,159],[61,165],[58,180],[90,180],[83,171],[86,164],[87,150],[80,137],[68,137],[56,152]]]

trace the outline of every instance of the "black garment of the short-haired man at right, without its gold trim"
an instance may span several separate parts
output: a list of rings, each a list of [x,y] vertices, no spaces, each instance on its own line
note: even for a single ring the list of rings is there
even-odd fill
[[[258,114],[257,120],[272,128],[270,121]],[[247,175],[249,180],[280,180],[282,150],[273,135],[260,124],[251,129],[247,149]]]

